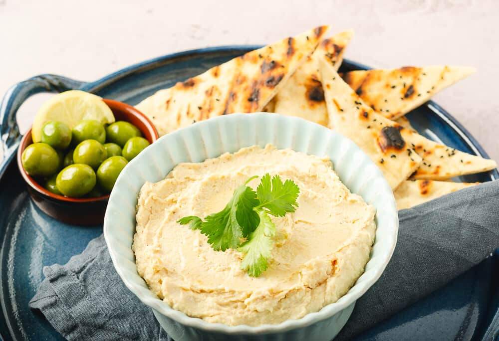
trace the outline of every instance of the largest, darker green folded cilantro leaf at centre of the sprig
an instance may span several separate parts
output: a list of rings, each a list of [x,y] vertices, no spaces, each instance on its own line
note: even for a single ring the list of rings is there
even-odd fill
[[[241,238],[248,236],[257,226],[258,214],[253,207],[258,204],[256,193],[246,184],[238,187],[225,208],[205,218],[201,232],[208,236],[214,250],[236,249]]]

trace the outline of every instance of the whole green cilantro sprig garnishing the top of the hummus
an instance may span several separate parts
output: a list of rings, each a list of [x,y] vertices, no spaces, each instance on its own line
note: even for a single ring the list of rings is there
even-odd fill
[[[245,253],[241,269],[252,277],[260,276],[268,267],[274,245],[275,224],[270,215],[283,217],[298,207],[299,187],[292,180],[282,182],[279,175],[266,173],[260,179],[256,192],[248,182],[236,188],[223,210],[205,217],[195,215],[179,219],[181,225],[199,229],[208,237],[214,250],[229,248]]]

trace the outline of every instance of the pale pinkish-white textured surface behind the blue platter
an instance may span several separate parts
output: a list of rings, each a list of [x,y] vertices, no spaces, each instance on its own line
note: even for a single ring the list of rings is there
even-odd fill
[[[264,44],[331,24],[355,29],[345,57],[373,67],[477,67],[436,100],[499,160],[498,13],[495,0],[0,0],[0,93],[39,73],[89,81],[170,52]],[[35,110],[26,105],[22,131]]]

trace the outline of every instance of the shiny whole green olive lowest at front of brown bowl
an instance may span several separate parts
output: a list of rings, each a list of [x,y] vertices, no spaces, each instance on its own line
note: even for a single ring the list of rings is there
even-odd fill
[[[88,165],[74,164],[59,172],[55,184],[65,196],[79,198],[95,186],[95,172]]]

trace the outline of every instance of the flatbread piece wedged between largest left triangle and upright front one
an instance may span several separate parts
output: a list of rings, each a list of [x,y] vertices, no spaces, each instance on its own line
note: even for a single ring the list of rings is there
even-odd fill
[[[309,56],[293,76],[275,95],[273,112],[298,116],[327,126],[326,102],[320,83],[319,59],[326,56],[334,69],[338,70],[343,61],[343,53],[353,36],[353,31],[345,31],[324,39],[315,52]]]

